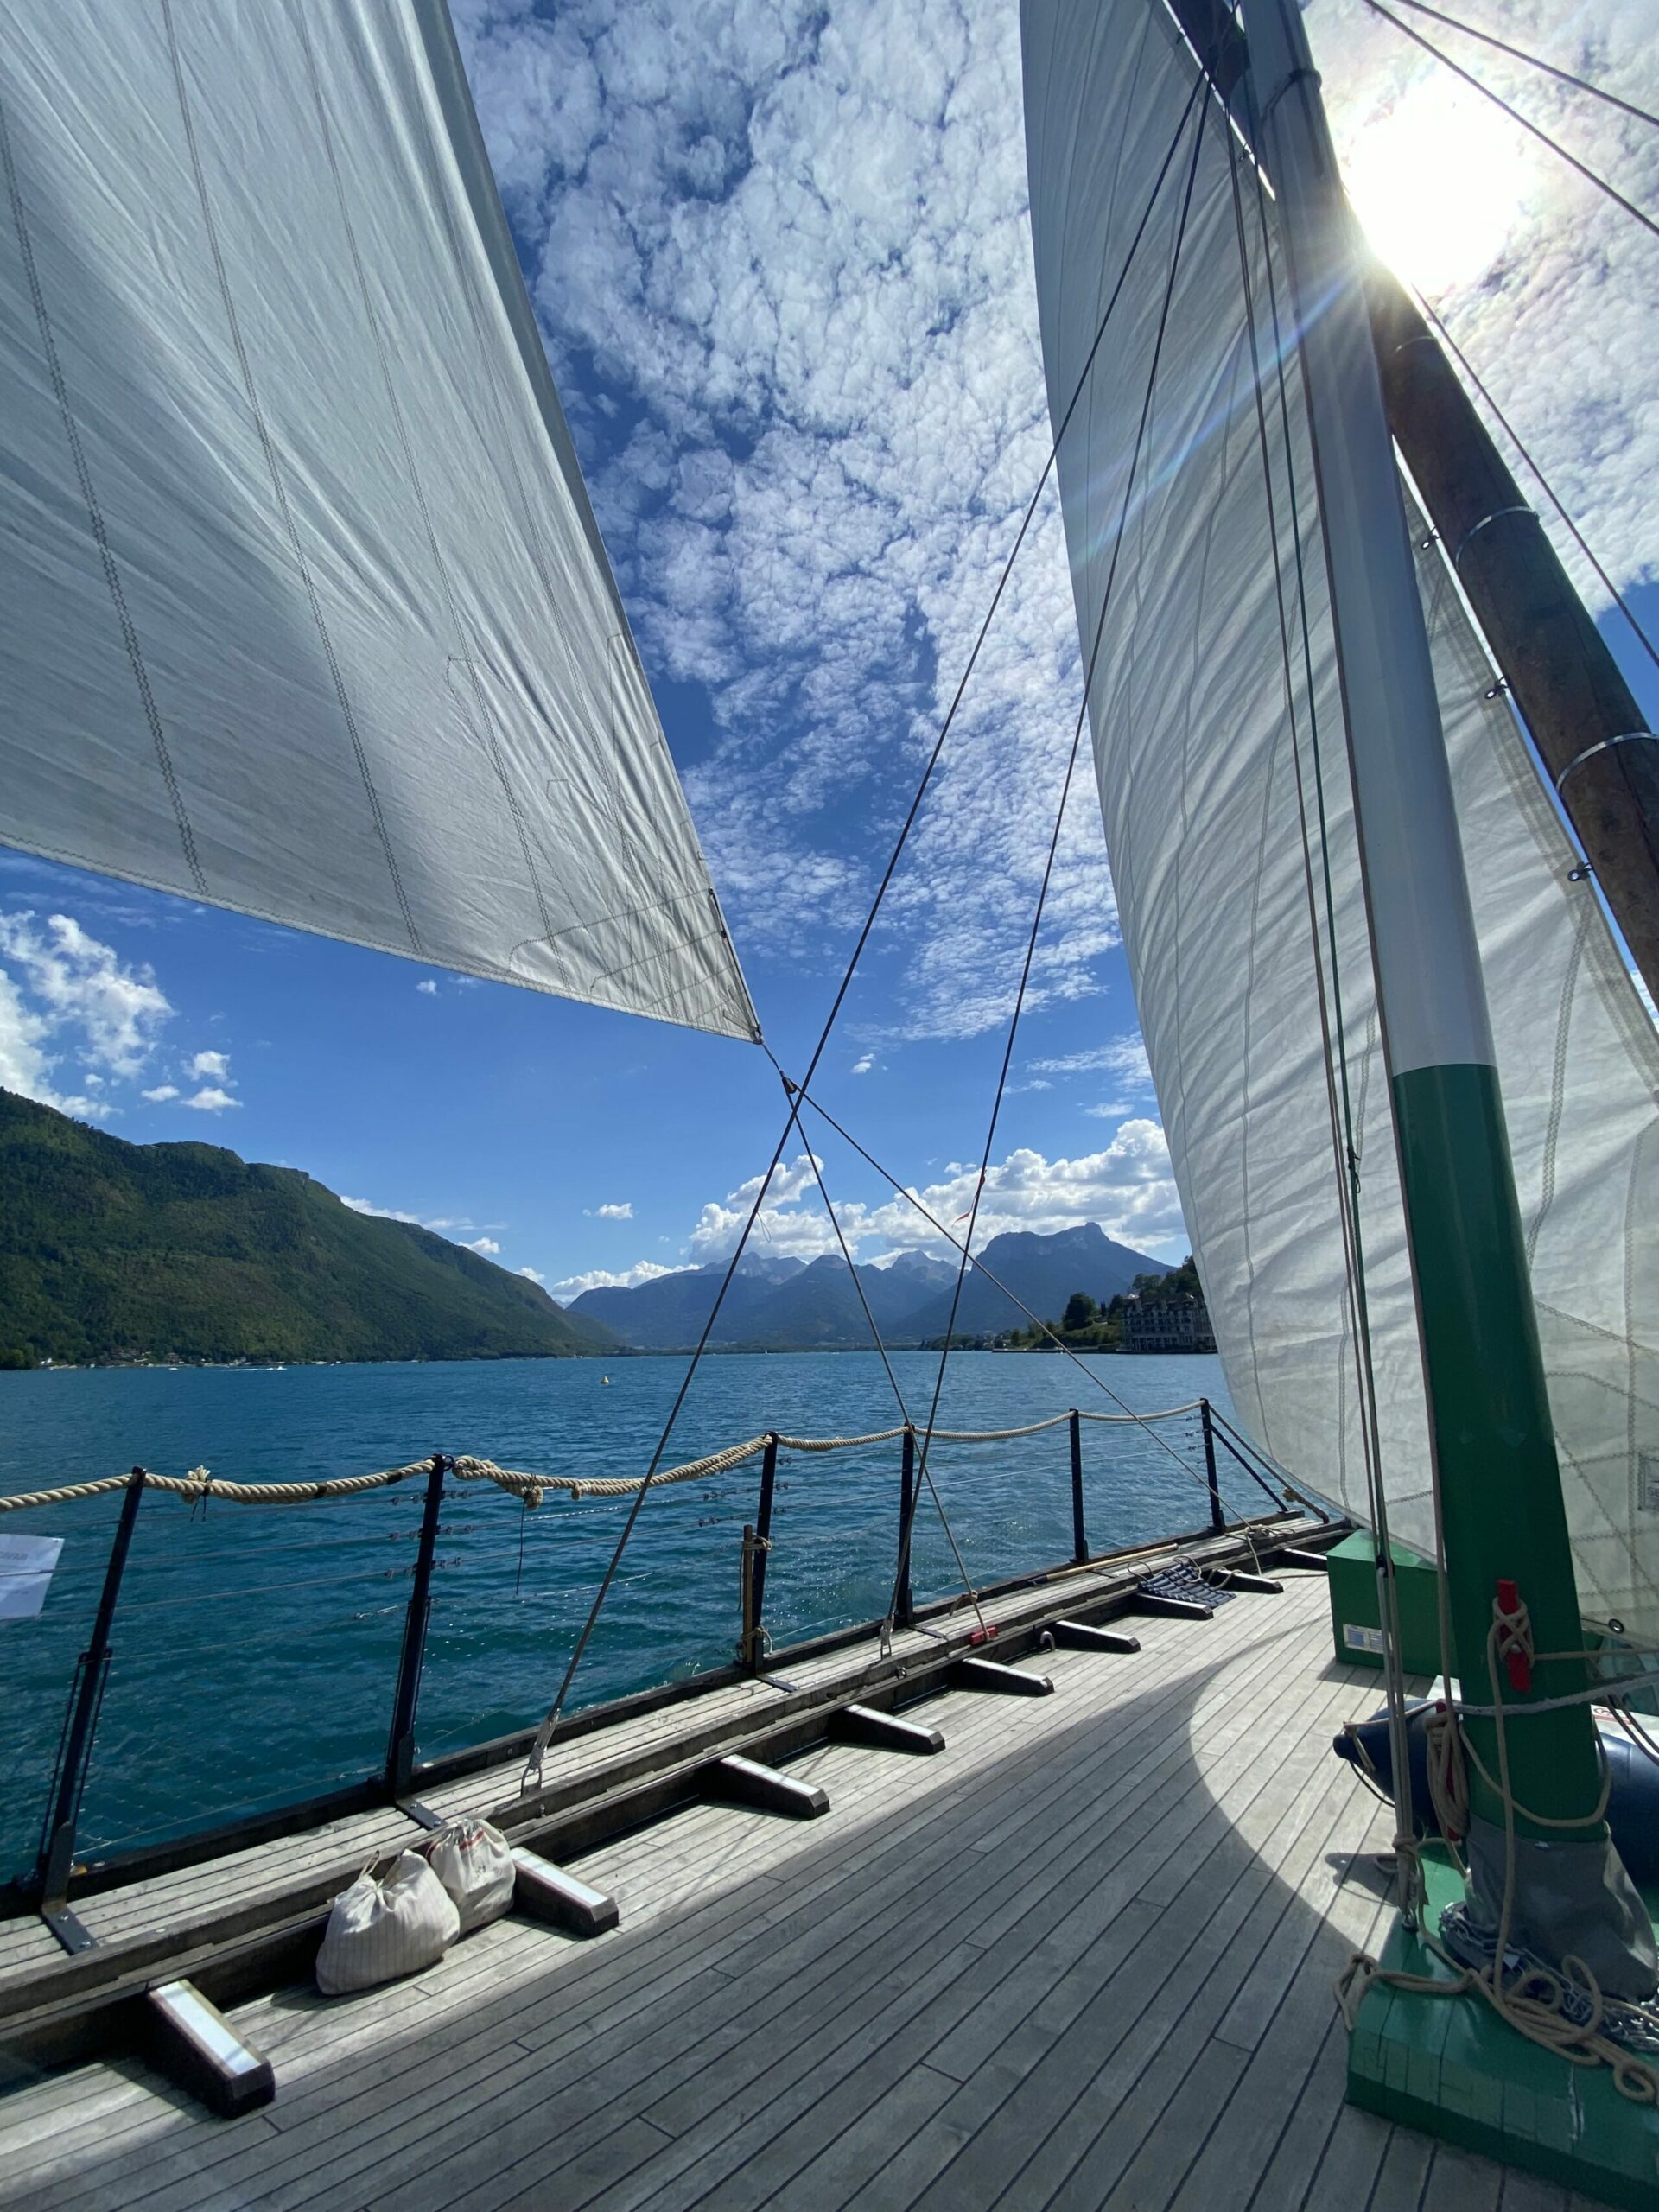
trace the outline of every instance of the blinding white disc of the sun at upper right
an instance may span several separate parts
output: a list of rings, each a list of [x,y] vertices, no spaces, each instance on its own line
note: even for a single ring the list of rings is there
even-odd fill
[[[1352,139],[1343,177],[1383,261],[1436,294],[1498,261],[1522,210],[1526,161],[1484,100],[1431,80]]]

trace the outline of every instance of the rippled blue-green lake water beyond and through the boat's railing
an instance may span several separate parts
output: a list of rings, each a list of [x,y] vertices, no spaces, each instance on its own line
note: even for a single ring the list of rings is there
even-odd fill
[[[894,1354],[922,1420],[936,1356]],[[1208,1396],[1214,1358],[1086,1363],[1139,1413]],[[675,1358],[478,1360],[420,1367],[73,1369],[0,1374],[0,1491],[144,1464],[239,1482],[307,1482],[429,1451],[507,1467],[639,1475],[684,1374]],[[608,1376],[608,1380],[604,1380]],[[940,1427],[1002,1429],[1113,1398],[1062,1358],[951,1358]],[[854,1436],[896,1422],[869,1354],[703,1360],[666,1464],[781,1429]],[[779,1464],[768,1626],[779,1646],[883,1615],[898,1540],[898,1442]],[[1071,1557],[1064,1427],[1000,1444],[936,1444],[933,1478],[975,1582]],[[739,1632],[743,1522],[759,1462],[653,1493],[588,1646],[573,1705],[726,1666]],[[1234,1513],[1265,1498],[1223,1460]],[[1088,1542],[1106,1551],[1208,1520],[1197,1416],[1084,1425]],[[422,1486],[310,1506],[190,1509],[153,1493],[137,1517],[115,1655],[82,1809],[82,1851],[210,1825],[356,1781],[385,1759]],[[33,1863],[75,1655],[86,1641],[119,1495],[9,1515],[60,1535],[46,1608],[0,1621],[0,1874]],[[420,1686],[420,1756],[544,1712],[622,1528],[626,1502],[549,1498],[526,1513],[493,1484],[445,1504]],[[925,1500],[916,1599],[960,1590]]]

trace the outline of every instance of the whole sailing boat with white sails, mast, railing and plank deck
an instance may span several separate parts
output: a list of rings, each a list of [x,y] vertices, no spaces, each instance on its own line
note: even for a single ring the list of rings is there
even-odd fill
[[[761,1042],[442,0],[7,0],[0,22],[0,838]],[[1652,2203],[1655,1927],[1590,1710],[1655,1754],[1659,1037],[1630,971],[1659,987],[1652,734],[1429,323],[1360,252],[1292,0],[1024,0],[1022,27],[1084,677],[1064,783],[1088,728],[1239,1413],[1201,1411],[1208,1524],[1091,1553],[1082,1422],[1148,1427],[1091,1400],[1037,1425],[1068,1427],[1071,1555],[995,1586],[962,1566],[960,1599],[918,1606],[918,1515],[951,1533],[940,1453],[1024,1431],[951,1436],[938,1385],[916,1418],[898,1383],[891,1429],[790,1438],[757,1407],[684,1467],[670,1416],[626,1480],[447,1451],[102,1480],[102,1597],[0,1920],[22,2084],[0,2201],[153,2179],[173,2205],[1336,2208],[1427,2172],[1398,2148],[1422,2128],[1562,2205]],[[843,995],[785,1073],[745,1239],[827,1119]],[[931,1223],[958,1296],[975,1221],[978,1197],[962,1237]],[[947,1325],[940,1383],[949,1354]],[[774,1650],[779,1458],[876,1447],[887,1613]],[[1234,1460],[1267,1513],[1223,1511]],[[568,1708],[648,1502],[750,1464],[737,1661]],[[573,1646],[538,1655],[542,1725],[422,1761],[465,1482],[522,1513],[549,1486],[617,1500],[619,1535]],[[398,1484],[422,1504],[385,1770],[82,1858],[146,1495],[257,1513]],[[1338,1588],[1349,1526],[1369,1621]],[[1407,1571],[1433,1586],[1431,1666]],[[1327,1750],[1356,1657],[1387,1692],[1383,1827]],[[1407,1677],[1436,1670],[1429,1823]],[[484,1814],[511,1922],[356,2013],[299,1993],[345,1878]],[[825,1814],[810,1849],[792,1823]],[[573,1960],[571,1933],[597,1949]],[[133,2075],[137,2048],[228,2119]],[[1495,2205],[1504,2181],[1478,2185]]]

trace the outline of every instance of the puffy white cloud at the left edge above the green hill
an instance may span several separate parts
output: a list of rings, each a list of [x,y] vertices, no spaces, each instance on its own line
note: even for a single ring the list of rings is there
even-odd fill
[[[42,1106],[102,1119],[111,1079],[131,1082],[173,1013],[148,967],[131,967],[66,914],[0,914],[0,1084]],[[66,1057],[82,1088],[60,1088]]]

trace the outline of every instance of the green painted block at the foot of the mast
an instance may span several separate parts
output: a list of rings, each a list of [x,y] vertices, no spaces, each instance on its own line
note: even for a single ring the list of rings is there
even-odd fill
[[[1425,1854],[1422,1871],[1436,1927],[1462,1882],[1438,1851]],[[1453,1980],[1400,1922],[1383,1966]],[[1347,2099],[1601,2203],[1659,2205],[1659,2108],[1621,2097],[1606,2066],[1573,2066],[1528,2044],[1484,1997],[1374,1982],[1347,2046]]]

